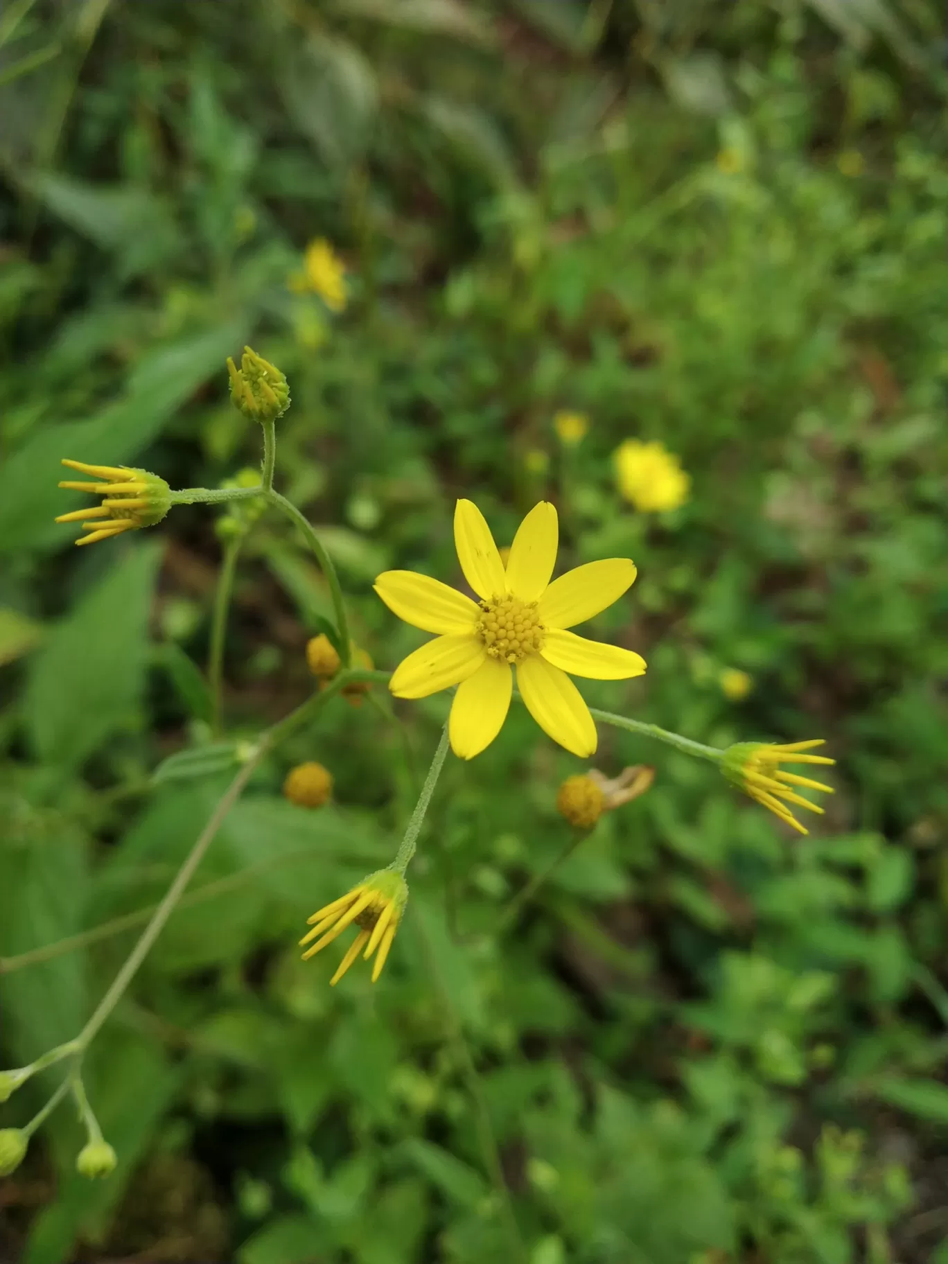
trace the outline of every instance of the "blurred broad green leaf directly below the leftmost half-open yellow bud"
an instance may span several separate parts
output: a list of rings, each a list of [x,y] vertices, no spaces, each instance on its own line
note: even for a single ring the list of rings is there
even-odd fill
[[[159,560],[161,541],[130,547],[33,660],[27,727],[48,763],[80,765],[135,715]]]

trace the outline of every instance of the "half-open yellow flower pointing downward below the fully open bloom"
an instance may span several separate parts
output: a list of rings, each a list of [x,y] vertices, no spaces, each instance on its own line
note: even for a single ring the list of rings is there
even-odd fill
[[[326,944],[332,943],[354,921],[359,933],[350,944],[339,969],[329,981],[330,987],[336,986],[363,948],[365,948],[365,961],[378,948],[375,964],[372,968],[372,982],[374,983],[386,964],[407,900],[408,885],[401,873],[394,870],[379,870],[377,873],[370,873],[351,891],[346,891],[339,900],[325,905],[308,919],[312,930],[303,935],[300,945],[307,944],[311,939],[316,939],[316,943],[312,948],[306,949],[303,961],[308,961]],[[317,939],[317,935],[321,938]]]

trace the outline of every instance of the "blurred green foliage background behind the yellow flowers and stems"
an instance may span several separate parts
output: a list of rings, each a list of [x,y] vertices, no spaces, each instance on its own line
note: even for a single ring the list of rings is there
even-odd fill
[[[940,16],[8,0],[0,1066],[81,1026],[133,942],[112,919],[161,896],[222,784],[152,780],[210,737],[219,514],[76,551],[59,458],[176,487],[254,466],[224,370],[248,340],[292,386],[278,485],[378,666],[421,640],[372,594],[379,570],[454,581],[458,495],[499,544],[549,497],[561,569],[638,565],[590,635],[648,675],[584,683],[592,703],[715,744],[825,737],[839,763],[798,838],[712,766],[602,729],[597,766],[653,765],[653,789],[498,933],[583,771],[514,708],[449,758],[382,981],[330,990],[331,953],[298,959],[305,919],[389,860],[449,702],[393,723],[336,700],[254,779],[195,890],[216,885],[92,1048],[118,1172],[76,1176],[58,1112],[0,1184],[0,1258],[948,1261]],[[305,279],[319,239],[345,265],[337,311]],[[580,442],[561,411],[588,418]],[[685,504],[623,501],[628,439],[680,459]],[[228,633],[231,736],[306,696],[329,612],[264,516]],[[307,758],[335,777],[319,811],[279,793]]]

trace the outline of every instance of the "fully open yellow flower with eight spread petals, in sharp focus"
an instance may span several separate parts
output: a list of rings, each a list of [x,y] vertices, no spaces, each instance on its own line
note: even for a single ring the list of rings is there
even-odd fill
[[[520,525],[504,568],[480,509],[459,501],[454,541],[479,602],[410,570],[387,570],[375,580],[375,592],[399,619],[439,633],[396,669],[389,689],[398,698],[427,698],[458,685],[449,733],[463,760],[499,733],[513,666],[533,719],[581,757],[597,747],[595,724],[566,672],[624,680],[645,671],[645,660],[631,650],[566,631],[617,602],[636,578],[635,565],[626,557],[592,561],[551,584],[557,535],[556,509],[541,501]]]

